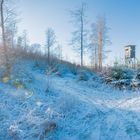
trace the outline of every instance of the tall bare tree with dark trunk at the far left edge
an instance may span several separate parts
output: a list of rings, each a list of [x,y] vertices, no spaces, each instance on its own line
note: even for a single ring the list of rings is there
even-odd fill
[[[11,1],[0,0],[0,18],[2,28],[2,44],[4,50],[4,59],[6,66],[6,75],[10,74],[11,62],[9,47],[14,46],[14,37],[16,32],[16,14],[10,5]]]

